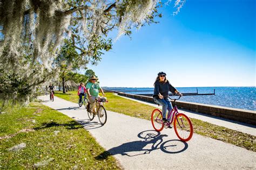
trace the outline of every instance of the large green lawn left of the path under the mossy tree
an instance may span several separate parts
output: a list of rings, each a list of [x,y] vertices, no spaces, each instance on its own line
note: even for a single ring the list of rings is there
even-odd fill
[[[76,121],[41,103],[8,107],[0,114],[0,169],[120,169]]]

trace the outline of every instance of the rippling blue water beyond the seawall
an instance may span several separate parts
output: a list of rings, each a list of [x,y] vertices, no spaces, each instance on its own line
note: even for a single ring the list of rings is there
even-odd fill
[[[115,88],[104,87],[109,90],[151,90],[125,91],[129,94],[153,94],[154,88]],[[177,88],[180,93],[196,93],[195,87]],[[213,93],[215,95],[183,96],[180,101],[220,105],[223,107],[256,110],[256,87],[198,87],[198,93]]]

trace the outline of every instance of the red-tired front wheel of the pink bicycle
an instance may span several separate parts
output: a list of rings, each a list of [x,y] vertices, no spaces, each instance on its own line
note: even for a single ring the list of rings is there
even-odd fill
[[[177,114],[174,118],[174,131],[177,134],[178,138],[182,141],[188,141],[193,136],[193,125],[184,114]]]

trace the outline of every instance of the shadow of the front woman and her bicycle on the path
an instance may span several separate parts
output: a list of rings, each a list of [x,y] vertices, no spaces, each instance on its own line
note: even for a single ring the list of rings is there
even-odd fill
[[[140,132],[138,134],[139,138],[144,140],[130,141],[124,143],[117,147],[113,147],[108,151],[104,151],[99,154],[96,159],[104,160],[109,157],[109,155],[126,155],[129,157],[134,157],[142,154],[150,154],[154,150],[160,149],[161,151],[169,154],[180,153],[187,149],[187,143],[181,140],[167,140],[164,141],[163,138],[167,137],[166,134],[160,134],[159,132],[153,130],[147,130]],[[163,142],[164,141],[164,142]],[[138,152],[135,153],[134,152]]]

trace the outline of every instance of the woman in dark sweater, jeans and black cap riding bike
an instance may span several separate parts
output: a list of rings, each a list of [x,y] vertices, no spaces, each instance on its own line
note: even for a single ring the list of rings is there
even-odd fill
[[[163,107],[163,122],[166,123],[166,112],[168,110],[168,115],[171,114],[172,111],[172,104],[170,99],[167,97],[169,96],[169,91],[171,91],[172,94],[176,93],[179,95],[182,95],[179,93],[179,91],[174,88],[171,83],[166,79],[166,73],[159,72],[156,81],[154,82],[154,102],[161,105]],[[171,116],[170,116],[171,117]],[[170,127],[171,128],[171,127]]]

